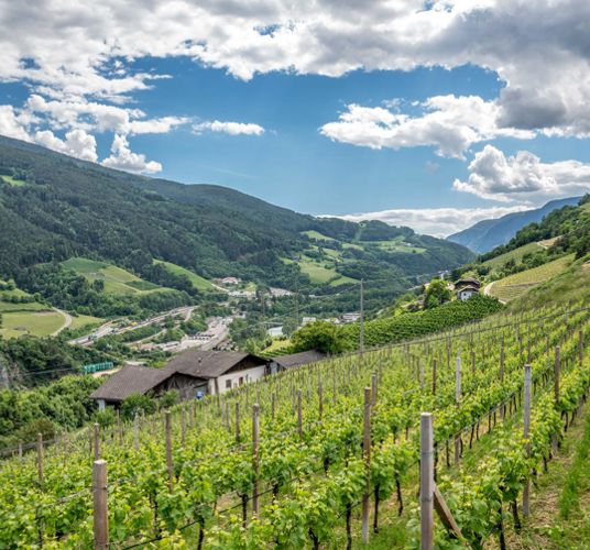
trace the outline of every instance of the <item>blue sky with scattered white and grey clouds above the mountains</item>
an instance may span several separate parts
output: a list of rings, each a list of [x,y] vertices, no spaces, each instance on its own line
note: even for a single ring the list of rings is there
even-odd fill
[[[0,134],[447,235],[590,191],[587,0],[0,0]]]

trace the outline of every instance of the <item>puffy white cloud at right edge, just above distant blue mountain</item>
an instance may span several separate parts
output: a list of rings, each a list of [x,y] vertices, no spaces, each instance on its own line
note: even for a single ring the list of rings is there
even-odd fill
[[[485,145],[469,164],[467,182],[456,179],[454,188],[484,199],[534,201],[590,193],[590,164],[579,161],[543,163],[528,151],[506,157]]]

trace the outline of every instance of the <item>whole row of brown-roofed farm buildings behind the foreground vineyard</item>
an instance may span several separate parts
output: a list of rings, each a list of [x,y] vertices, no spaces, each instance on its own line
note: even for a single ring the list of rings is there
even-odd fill
[[[263,359],[251,353],[190,350],[174,358],[165,367],[127,365],[116,372],[90,398],[100,409],[119,407],[131,395],[159,397],[174,389],[183,400],[217,395],[255,382],[264,376],[324,359],[306,351]]]

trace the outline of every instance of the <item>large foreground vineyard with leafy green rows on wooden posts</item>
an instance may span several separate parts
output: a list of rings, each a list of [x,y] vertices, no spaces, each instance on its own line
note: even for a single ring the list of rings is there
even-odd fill
[[[0,465],[0,548],[352,548],[385,524],[417,548],[423,411],[457,527],[435,520],[437,548],[505,548],[586,400],[589,337],[588,304],[498,314],[14,449]]]

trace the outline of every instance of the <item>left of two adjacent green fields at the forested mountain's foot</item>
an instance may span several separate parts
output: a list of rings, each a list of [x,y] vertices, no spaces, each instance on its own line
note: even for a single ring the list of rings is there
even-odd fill
[[[62,264],[83,275],[90,283],[97,279],[105,282],[105,292],[109,294],[144,294],[167,290],[148,280],[106,262],[97,262],[85,257],[72,257]]]

